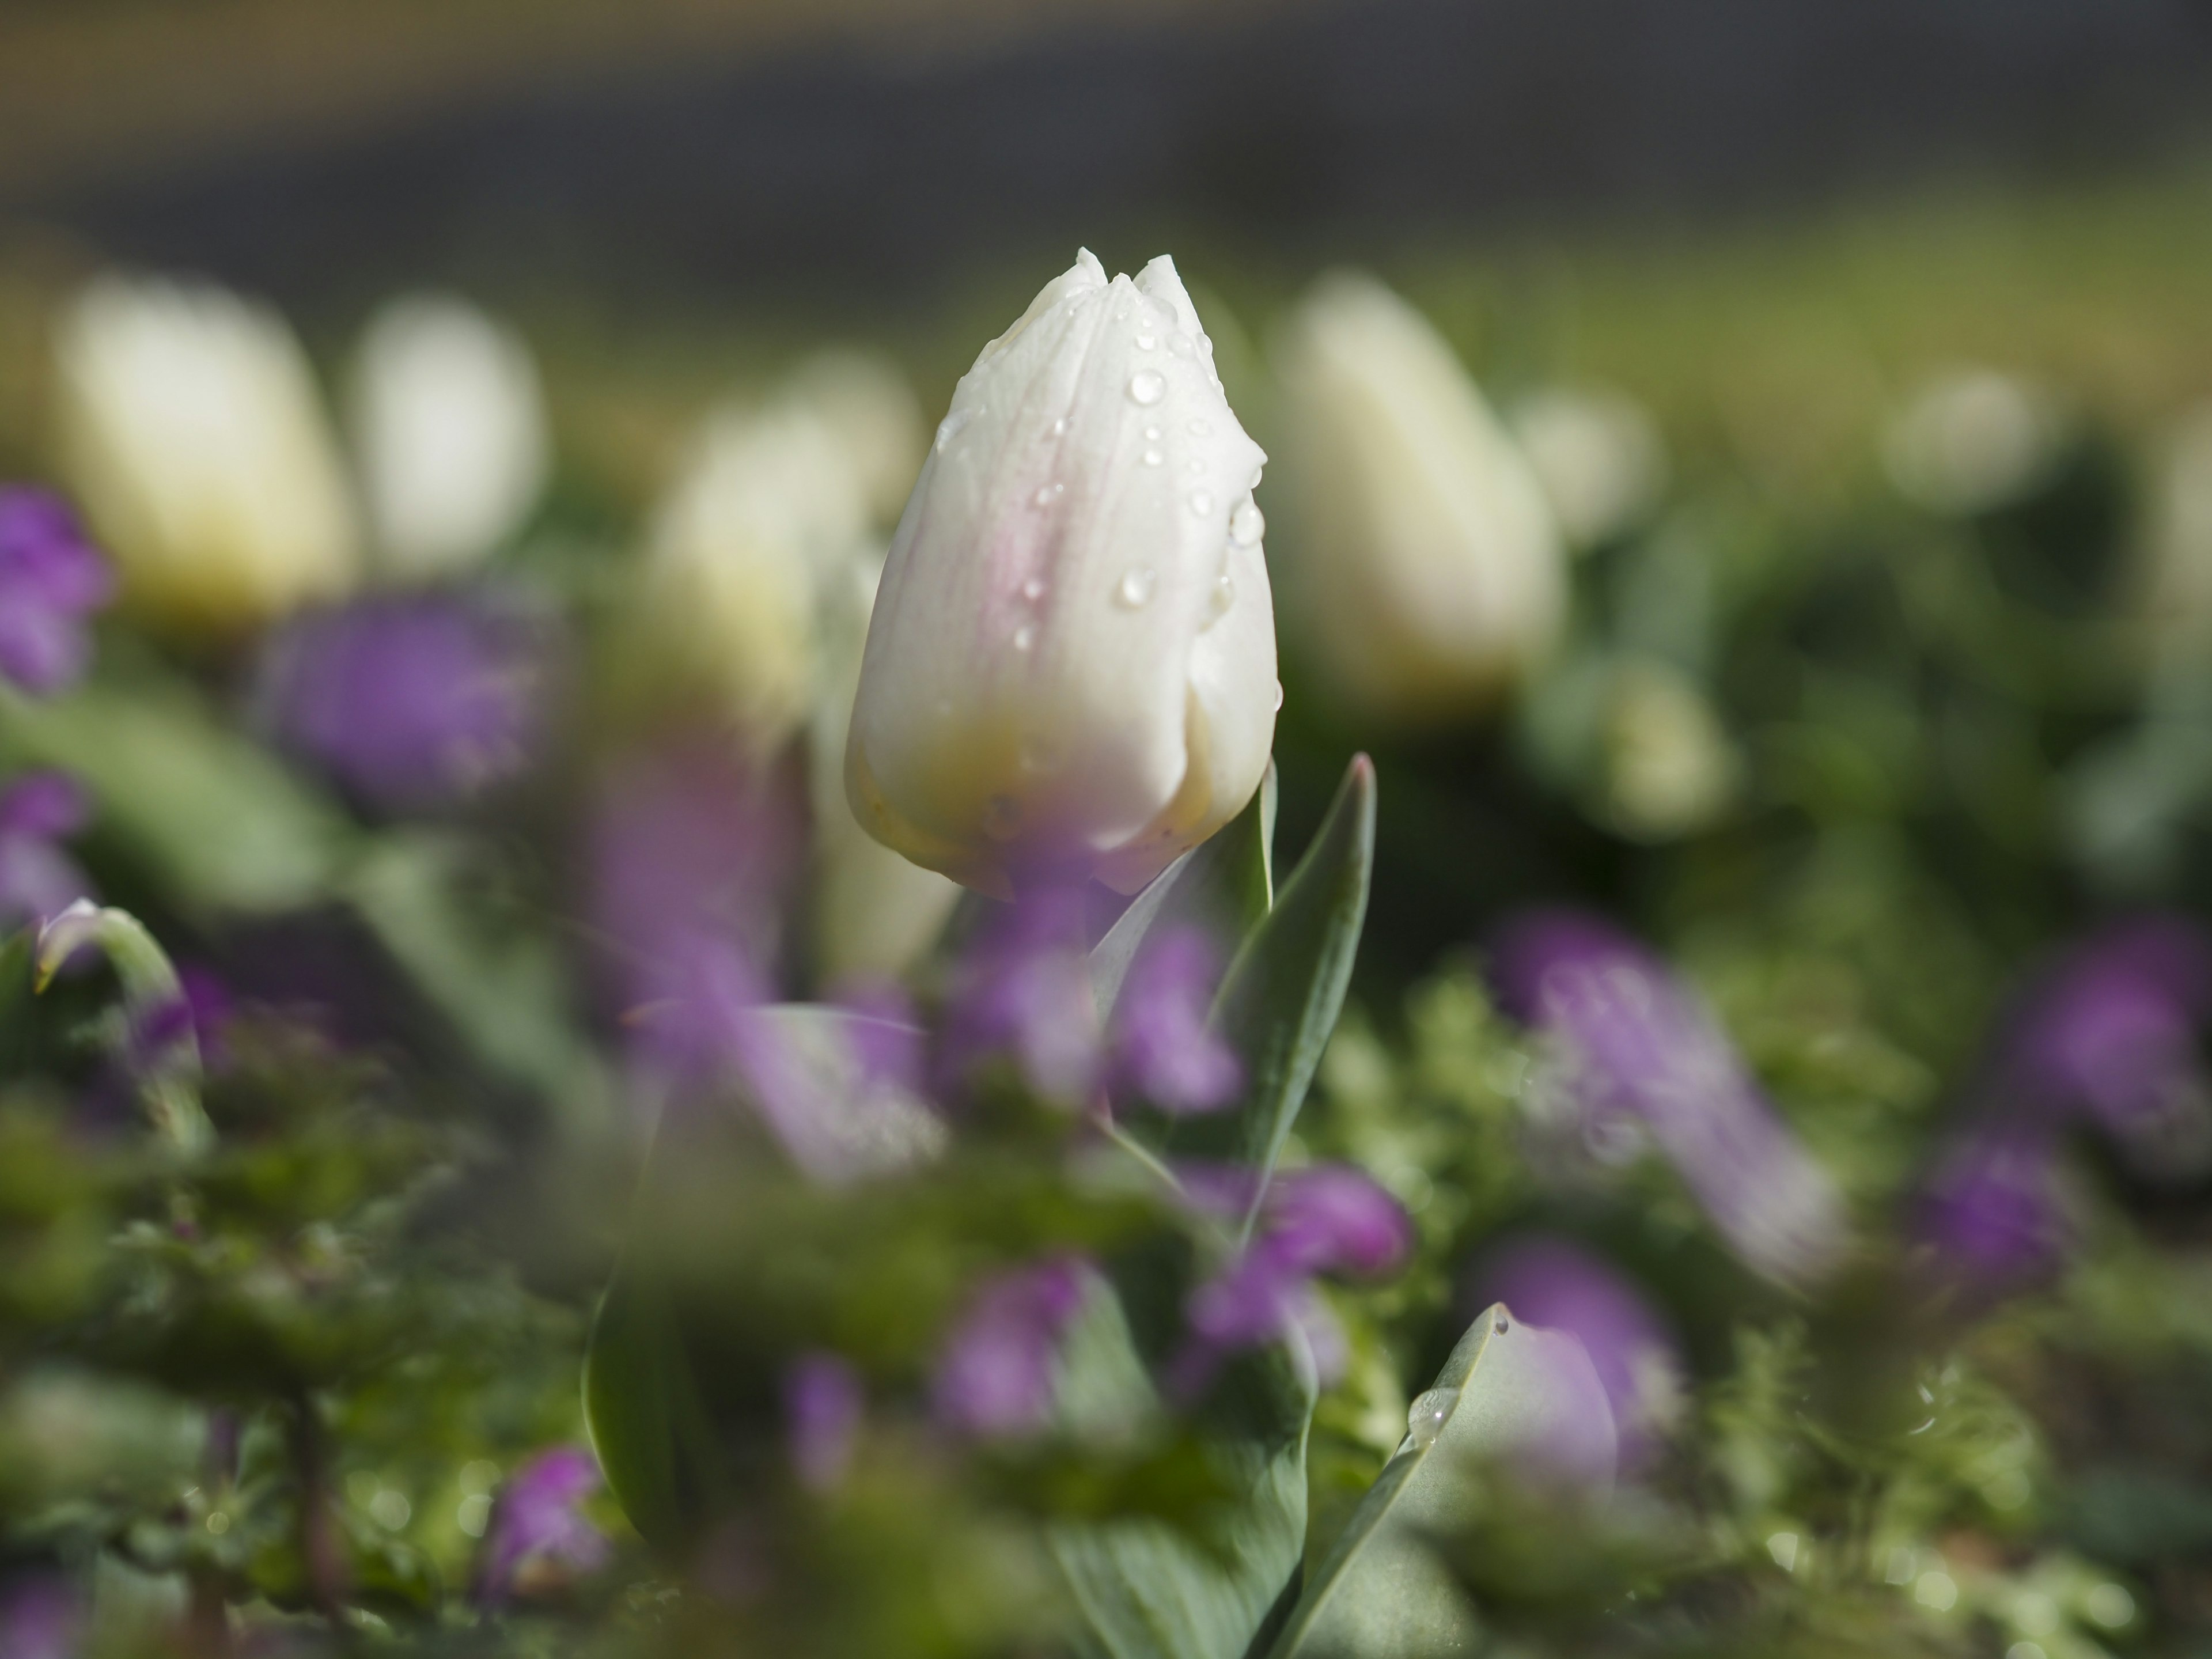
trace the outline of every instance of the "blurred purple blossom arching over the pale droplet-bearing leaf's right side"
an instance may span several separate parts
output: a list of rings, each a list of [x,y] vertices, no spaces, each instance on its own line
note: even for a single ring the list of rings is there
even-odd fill
[[[1582,1343],[1613,1405],[1621,1462],[1635,1469],[1650,1458],[1679,1402],[1681,1354],[1635,1285],[1590,1252],[1540,1234],[1504,1245],[1471,1283],[1469,1314],[1504,1303],[1522,1323]]]

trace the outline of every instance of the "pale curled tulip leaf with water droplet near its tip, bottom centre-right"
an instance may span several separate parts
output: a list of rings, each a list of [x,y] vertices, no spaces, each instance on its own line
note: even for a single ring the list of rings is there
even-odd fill
[[[1520,1464],[1588,1495],[1613,1484],[1613,1409],[1582,1343],[1522,1325],[1502,1303],[1467,1327],[1411,1422],[1272,1659],[1480,1650],[1480,1617],[1436,1542],[1473,1520],[1484,1475]]]

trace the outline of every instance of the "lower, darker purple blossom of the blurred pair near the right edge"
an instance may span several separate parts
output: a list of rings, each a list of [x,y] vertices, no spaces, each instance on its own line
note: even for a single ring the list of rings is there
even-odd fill
[[[1991,1124],[1960,1137],[1920,1194],[1913,1232],[1969,1296],[2048,1279],[2075,1237],[2057,1139]]]

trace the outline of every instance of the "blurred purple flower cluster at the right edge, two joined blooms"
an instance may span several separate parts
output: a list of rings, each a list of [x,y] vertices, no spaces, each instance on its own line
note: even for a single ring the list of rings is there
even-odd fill
[[[2197,1053],[2208,1015],[2212,938],[2179,916],[2117,922],[2020,993],[1920,1192],[1916,1232],[1955,1285],[2000,1294],[2064,1263],[2066,1141],[2079,1128],[2143,1179],[2212,1164]]]

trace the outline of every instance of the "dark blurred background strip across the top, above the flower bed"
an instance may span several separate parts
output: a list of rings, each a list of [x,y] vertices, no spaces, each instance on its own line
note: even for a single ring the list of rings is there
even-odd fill
[[[2208,93],[2201,0],[11,0],[0,219],[276,296],[867,292],[2095,173]]]

